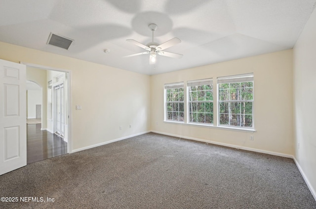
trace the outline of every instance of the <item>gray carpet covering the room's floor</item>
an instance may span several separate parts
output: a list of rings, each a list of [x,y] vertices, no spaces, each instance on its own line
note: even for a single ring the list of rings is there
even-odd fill
[[[292,159],[155,133],[4,174],[0,196],[45,201],[5,209],[316,209]]]

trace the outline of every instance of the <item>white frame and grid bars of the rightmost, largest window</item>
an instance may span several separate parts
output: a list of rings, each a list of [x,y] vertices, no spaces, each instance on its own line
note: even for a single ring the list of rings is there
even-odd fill
[[[251,121],[251,127],[250,126],[237,126],[237,125],[227,125],[227,124],[220,124],[220,103],[223,102],[222,100],[220,100],[220,88],[219,85],[220,84],[234,84],[234,83],[247,83],[247,82],[252,82],[252,99],[238,99],[238,100],[231,100],[231,98],[229,100],[225,100],[226,103],[229,104],[230,103],[242,103],[242,102],[252,102],[252,111],[251,111],[251,117],[252,117],[252,121]],[[239,89],[241,89],[241,87],[239,87]],[[230,88],[228,89],[230,90]],[[228,94],[230,95],[230,93]],[[231,95],[230,95],[231,96]],[[241,104],[240,104],[241,105]],[[231,114],[231,109],[229,108],[229,113]],[[241,111],[240,111],[240,115],[241,115]],[[225,76],[225,77],[217,77],[217,127],[220,128],[232,128],[232,129],[244,129],[244,130],[255,130],[255,125],[254,125],[254,76],[253,73],[247,73],[247,74],[241,74],[241,75],[234,75],[234,76]]]

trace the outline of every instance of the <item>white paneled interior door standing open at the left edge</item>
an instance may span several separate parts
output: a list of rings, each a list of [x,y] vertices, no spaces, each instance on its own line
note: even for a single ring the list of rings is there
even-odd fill
[[[26,166],[26,66],[0,60],[0,175]]]

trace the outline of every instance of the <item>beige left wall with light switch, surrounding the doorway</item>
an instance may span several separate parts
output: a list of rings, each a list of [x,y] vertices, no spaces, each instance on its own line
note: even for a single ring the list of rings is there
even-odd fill
[[[150,130],[150,77],[147,75],[3,42],[0,42],[0,59],[71,70],[70,150]],[[77,104],[82,110],[76,110]]]

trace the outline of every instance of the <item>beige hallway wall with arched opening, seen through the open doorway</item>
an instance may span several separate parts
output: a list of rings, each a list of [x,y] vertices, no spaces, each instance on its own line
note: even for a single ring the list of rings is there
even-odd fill
[[[1,42],[0,42],[1,43]],[[1,48],[0,48],[0,51]],[[0,56],[0,59],[1,56]],[[2,59],[5,60],[5,59]],[[26,80],[33,81],[37,83],[42,89],[42,103],[41,103],[41,108],[42,108],[42,114],[41,114],[41,128],[46,129],[47,128],[47,123],[46,123],[46,112],[47,112],[47,82],[46,82],[46,70],[41,70],[33,67],[27,67],[26,68]]]

